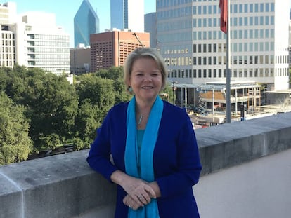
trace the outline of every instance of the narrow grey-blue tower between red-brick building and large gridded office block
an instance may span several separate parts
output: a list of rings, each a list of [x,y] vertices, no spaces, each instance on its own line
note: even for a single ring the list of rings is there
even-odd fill
[[[150,48],[157,47],[157,25],[155,12],[145,14],[145,32],[150,33]]]

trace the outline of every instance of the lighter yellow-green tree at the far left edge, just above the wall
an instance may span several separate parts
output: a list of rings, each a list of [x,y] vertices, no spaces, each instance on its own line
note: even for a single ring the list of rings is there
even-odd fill
[[[0,165],[27,160],[32,152],[25,107],[0,92]]]

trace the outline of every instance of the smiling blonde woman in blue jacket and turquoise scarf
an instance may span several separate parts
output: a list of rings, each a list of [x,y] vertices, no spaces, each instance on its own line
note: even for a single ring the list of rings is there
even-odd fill
[[[160,99],[166,78],[155,50],[130,53],[124,82],[134,97],[110,109],[91,145],[89,165],[117,184],[115,217],[199,217],[195,133],[184,109]]]

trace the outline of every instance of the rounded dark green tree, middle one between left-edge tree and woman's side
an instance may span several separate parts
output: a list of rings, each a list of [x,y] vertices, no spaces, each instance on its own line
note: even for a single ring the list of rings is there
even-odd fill
[[[64,76],[54,74],[32,77],[27,83],[30,94],[23,104],[29,105],[35,147],[54,149],[73,137],[78,107],[75,88]]]

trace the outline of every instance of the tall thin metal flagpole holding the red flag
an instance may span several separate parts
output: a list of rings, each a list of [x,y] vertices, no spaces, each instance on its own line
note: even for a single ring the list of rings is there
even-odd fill
[[[230,16],[230,8],[231,3],[230,0],[227,4],[227,22],[226,22],[226,123],[231,123],[231,16]]]

